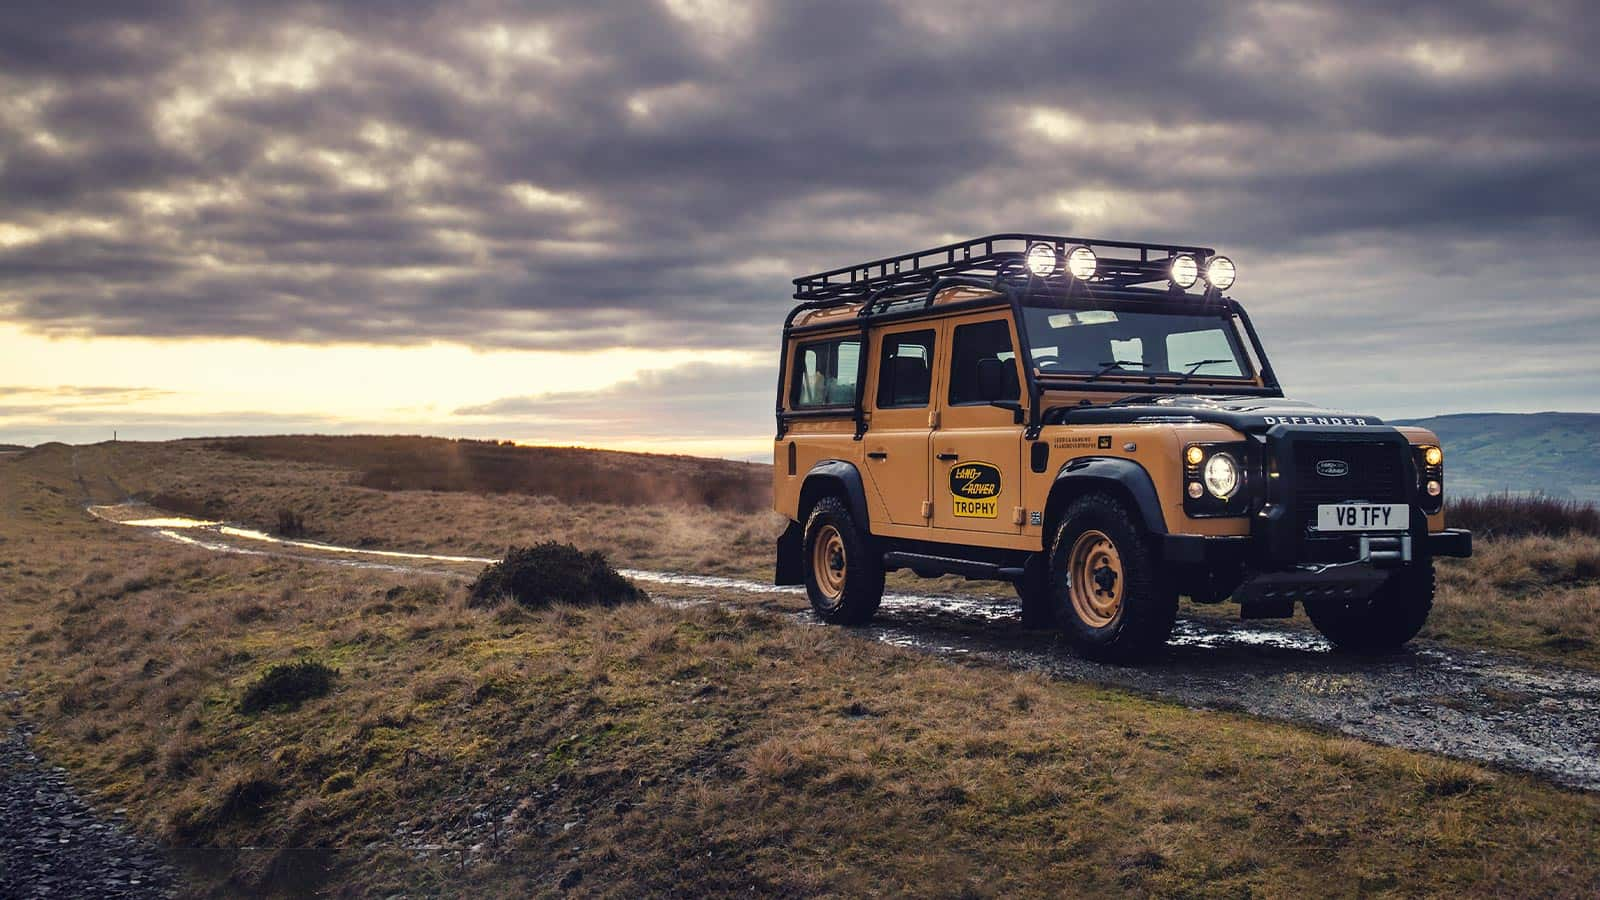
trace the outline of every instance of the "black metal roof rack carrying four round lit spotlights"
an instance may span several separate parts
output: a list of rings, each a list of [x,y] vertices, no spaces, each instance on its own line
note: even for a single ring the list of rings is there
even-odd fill
[[[1027,248],[1035,243],[1054,245],[1058,258],[1064,258],[1074,247],[1088,247],[1099,258],[1088,283],[1118,288],[1168,280],[1171,259],[1182,253],[1194,256],[1200,271],[1205,271],[1206,261],[1216,253],[1210,247],[1178,243],[1099,240],[1061,234],[990,234],[816,272],[814,275],[802,275],[795,279],[795,299],[848,303],[874,293],[885,296],[901,290],[928,288],[936,280],[952,275],[986,277],[992,279],[997,287],[1010,280],[1027,283],[1032,275],[1026,266],[1026,255]],[[1070,275],[1058,269],[1054,275],[1032,280],[1066,283],[1069,279]]]

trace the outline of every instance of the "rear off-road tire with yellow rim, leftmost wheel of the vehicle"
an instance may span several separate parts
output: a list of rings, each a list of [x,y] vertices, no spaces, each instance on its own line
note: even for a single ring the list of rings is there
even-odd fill
[[[842,559],[838,570],[818,572],[818,541],[837,536]],[[866,625],[883,602],[883,557],[872,540],[856,527],[850,508],[837,496],[824,496],[805,522],[805,593],[818,618],[829,625]],[[824,548],[822,556],[832,556]]]

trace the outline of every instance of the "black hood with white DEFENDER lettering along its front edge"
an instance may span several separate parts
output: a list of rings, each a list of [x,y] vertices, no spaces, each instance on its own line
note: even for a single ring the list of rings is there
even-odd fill
[[[1262,434],[1278,424],[1312,428],[1371,428],[1384,420],[1370,415],[1326,410],[1283,397],[1152,397],[1094,407],[1056,407],[1046,413],[1051,424],[1150,424],[1216,423],[1245,434]]]

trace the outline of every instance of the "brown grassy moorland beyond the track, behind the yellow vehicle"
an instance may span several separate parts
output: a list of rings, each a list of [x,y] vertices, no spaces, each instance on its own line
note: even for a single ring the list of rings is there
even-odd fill
[[[394,440],[394,448],[384,448]],[[608,471],[670,471],[678,484],[728,480],[725,508],[653,503],[648,480],[619,503],[582,496],[595,479],[546,484],[550,495],[470,490],[379,490],[374,461],[411,471],[406,484],[435,484],[427,460],[453,460],[438,439],[262,437],[174,444],[101,444],[80,448],[80,469],[107,498],[139,493],[157,506],[274,528],[285,511],[309,536],[443,552],[498,556],[510,544],[555,538],[603,549],[616,564],[766,580],[782,520],[766,509],[770,469],[685,456],[597,456]],[[493,444],[466,442],[470,452]],[[530,469],[546,448],[507,448]],[[557,453],[582,453],[555,450]],[[318,453],[322,458],[318,461]],[[624,458],[616,461],[616,458]],[[395,458],[410,463],[398,466]],[[634,460],[629,463],[629,460]],[[440,463],[443,464],[443,463]],[[696,474],[694,466],[704,466]],[[514,480],[498,476],[501,480]],[[475,482],[474,482],[475,484]],[[542,484],[542,482],[541,482]],[[530,488],[531,490],[531,488]],[[752,508],[752,504],[757,504]],[[1477,557],[1440,562],[1438,602],[1424,637],[1514,650],[1566,665],[1600,668],[1600,520],[1594,506],[1544,498],[1491,496],[1451,504],[1453,524],[1480,533]],[[1485,540],[1486,535],[1486,540]],[[912,591],[974,591],[1010,596],[994,583],[954,578],[928,585],[896,575]],[[1232,617],[1237,607],[1189,607],[1190,615]],[[1299,613],[1294,625],[1310,628]]]

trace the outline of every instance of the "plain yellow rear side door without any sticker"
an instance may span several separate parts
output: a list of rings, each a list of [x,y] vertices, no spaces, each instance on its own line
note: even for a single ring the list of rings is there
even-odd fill
[[[938,327],[883,328],[874,335],[866,469],[896,525],[928,524],[928,437]]]

